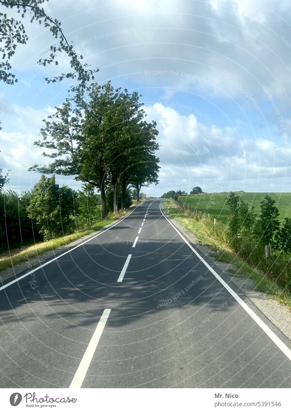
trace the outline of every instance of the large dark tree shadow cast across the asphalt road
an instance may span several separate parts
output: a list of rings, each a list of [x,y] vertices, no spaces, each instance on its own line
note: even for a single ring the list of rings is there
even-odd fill
[[[119,283],[129,253],[132,257]],[[4,324],[15,322],[19,308],[25,305],[21,320],[32,320],[38,316],[41,302],[42,318],[69,315],[74,319],[72,328],[96,326],[105,308],[112,309],[111,326],[120,328],[152,314],[189,307],[195,312],[205,305],[210,312],[217,308],[229,311],[234,303],[178,237],[150,240],[135,249],[117,242],[87,243],[32,275],[0,292]],[[227,305],[222,306],[226,300]]]

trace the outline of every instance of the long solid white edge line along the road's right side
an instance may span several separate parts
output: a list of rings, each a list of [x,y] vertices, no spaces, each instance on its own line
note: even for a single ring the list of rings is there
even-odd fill
[[[226,288],[226,290],[230,293],[232,297],[242,306],[242,308],[247,312],[253,320],[259,325],[259,327],[269,336],[269,338],[275,343],[276,346],[287,356],[287,358],[291,361],[291,350],[288,346],[286,346],[280,338],[259,318],[259,316],[242,300],[241,297],[231,287],[215,272],[215,270],[200,256],[200,254],[190,245],[188,240],[178,231],[178,229],[173,225],[173,223],[163,214],[161,209],[160,203],[160,210],[163,217],[170,223],[171,226],[177,231],[178,235],[183,239],[183,241],[190,247],[190,249],[195,253],[195,255],[201,260],[202,263],[210,270],[210,272],[215,276],[217,280]]]

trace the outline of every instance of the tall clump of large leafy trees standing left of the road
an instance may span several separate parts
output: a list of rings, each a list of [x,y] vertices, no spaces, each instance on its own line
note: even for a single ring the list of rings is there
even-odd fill
[[[72,97],[45,121],[41,130],[43,140],[34,143],[52,150],[50,154],[43,153],[52,162],[47,166],[33,165],[29,170],[75,175],[76,180],[97,187],[105,217],[107,186],[113,189],[117,213],[121,179],[123,195],[131,183],[129,176],[139,185],[157,181],[159,159],[153,152],[158,148],[158,131],[155,122],[144,120],[145,113],[135,92],[114,90],[111,82],[101,86],[92,83],[85,92],[80,88],[71,91]],[[132,166],[137,164],[136,168]]]

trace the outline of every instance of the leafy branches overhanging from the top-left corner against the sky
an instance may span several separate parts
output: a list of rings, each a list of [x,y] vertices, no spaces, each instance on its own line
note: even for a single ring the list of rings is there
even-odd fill
[[[64,52],[70,59],[72,71],[61,73],[59,76],[46,78],[47,82],[58,82],[66,79],[77,78],[80,83],[88,82],[94,78],[93,73],[97,70],[88,70],[87,64],[82,64],[82,55],[78,55],[73,45],[69,43],[63,32],[61,22],[49,16],[42,4],[48,0],[0,0],[3,12],[0,13],[0,37],[3,46],[0,47],[2,62],[0,62],[0,80],[7,84],[17,82],[15,74],[12,73],[11,59],[13,58],[19,44],[27,44],[28,35],[24,26],[24,17],[30,16],[30,23],[36,22],[39,25],[49,28],[52,37],[56,43],[52,44],[48,50],[49,56],[45,59],[39,59],[38,64],[48,66],[54,64],[58,66],[60,53]],[[5,12],[4,12],[4,9]],[[17,13],[19,18],[8,16],[7,12]]]

